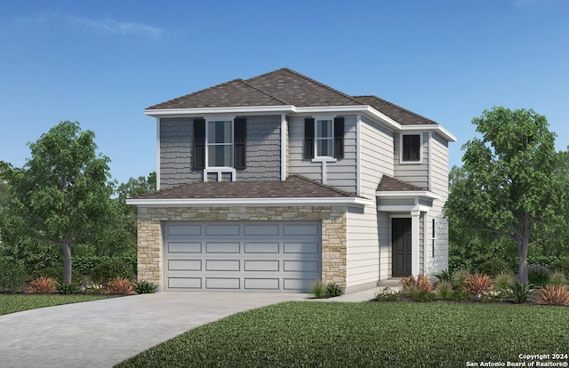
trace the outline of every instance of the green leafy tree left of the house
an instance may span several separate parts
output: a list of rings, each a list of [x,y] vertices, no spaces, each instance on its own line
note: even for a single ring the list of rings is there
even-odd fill
[[[4,234],[60,245],[63,280],[71,282],[71,246],[108,221],[113,185],[107,156],[97,155],[92,131],[61,122],[29,143],[22,168],[4,164],[11,188]],[[5,219],[9,218],[8,221]]]

